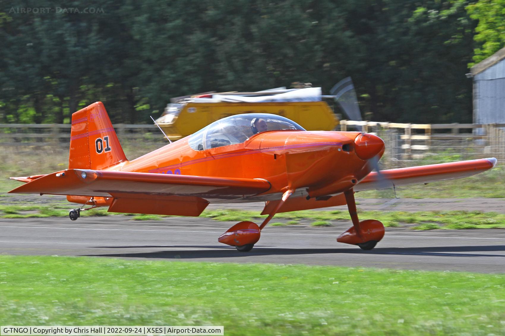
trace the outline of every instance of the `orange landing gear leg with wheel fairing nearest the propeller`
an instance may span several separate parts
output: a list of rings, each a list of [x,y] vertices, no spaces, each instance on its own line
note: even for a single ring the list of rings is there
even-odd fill
[[[384,237],[384,226],[375,219],[360,221],[354,199],[354,190],[344,191],[352,227],[338,236],[337,242],[358,245],[363,250],[371,250]]]

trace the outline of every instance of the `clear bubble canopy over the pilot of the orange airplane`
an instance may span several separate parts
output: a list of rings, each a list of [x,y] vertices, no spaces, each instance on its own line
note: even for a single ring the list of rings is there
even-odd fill
[[[204,150],[242,143],[251,136],[279,130],[305,131],[295,122],[268,113],[248,113],[218,120],[189,136],[188,144],[194,150]]]

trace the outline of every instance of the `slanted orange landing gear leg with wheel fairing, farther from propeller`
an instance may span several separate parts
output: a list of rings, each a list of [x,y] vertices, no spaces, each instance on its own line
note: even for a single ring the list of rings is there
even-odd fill
[[[272,219],[275,213],[280,209],[282,204],[291,196],[294,189],[289,189],[282,195],[282,199],[279,204],[272,210],[267,218],[258,226],[252,221],[241,221],[232,226],[228,231],[219,236],[218,242],[227,244],[230,246],[235,246],[235,248],[240,252],[249,252],[260,240],[261,230],[267,225],[267,223]]]

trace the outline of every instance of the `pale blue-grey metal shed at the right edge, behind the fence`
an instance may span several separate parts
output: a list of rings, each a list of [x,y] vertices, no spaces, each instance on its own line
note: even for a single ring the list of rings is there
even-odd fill
[[[474,124],[505,123],[505,48],[472,67]]]

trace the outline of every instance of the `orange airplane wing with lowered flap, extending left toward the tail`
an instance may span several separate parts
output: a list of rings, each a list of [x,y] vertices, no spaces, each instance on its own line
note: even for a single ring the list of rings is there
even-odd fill
[[[84,169],[67,169],[27,180],[9,193],[113,197],[109,211],[184,216],[198,216],[210,201],[254,196],[271,187],[263,179]]]

